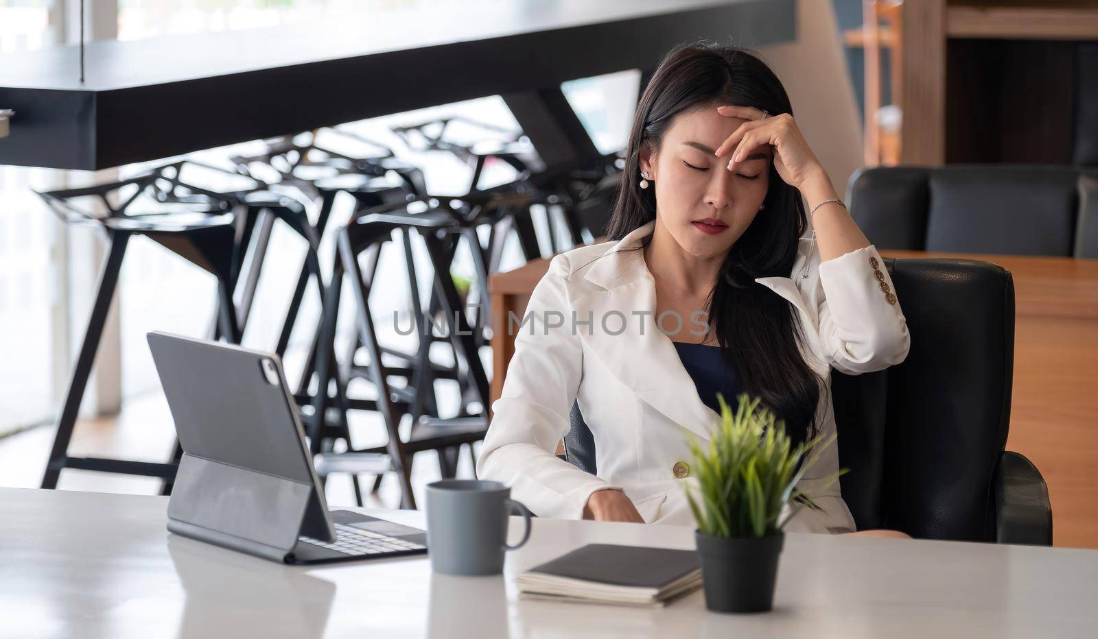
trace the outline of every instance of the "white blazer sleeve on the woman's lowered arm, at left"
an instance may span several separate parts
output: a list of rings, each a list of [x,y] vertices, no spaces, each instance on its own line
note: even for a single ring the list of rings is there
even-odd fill
[[[556,256],[523,317],[514,323],[492,317],[493,329],[515,335],[515,354],[500,399],[492,403],[477,474],[511,485],[512,496],[540,517],[580,519],[592,493],[618,486],[556,455],[557,442],[571,428],[583,370],[583,348],[564,290],[569,272],[568,258]]]

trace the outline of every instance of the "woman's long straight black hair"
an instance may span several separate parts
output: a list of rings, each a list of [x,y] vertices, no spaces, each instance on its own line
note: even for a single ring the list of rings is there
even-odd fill
[[[739,104],[793,114],[774,71],[737,46],[683,44],[664,56],[637,104],[607,237],[616,240],[656,218],[654,189],[641,189],[640,150],[656,150],[675,115],[716,104]],[[764,209],[729,249],[707,300],[713,329],[743,390],[785,421],[794,441],[815,433],[820,379],[805,362],[795,310],[754,281],[789,277],[806,228],[800,193],[770,166]],[[650,240],[651,236],[647,240]],[[646,240],[646,245],[647,245]],[[729,402],[735,401],[728,397]]]

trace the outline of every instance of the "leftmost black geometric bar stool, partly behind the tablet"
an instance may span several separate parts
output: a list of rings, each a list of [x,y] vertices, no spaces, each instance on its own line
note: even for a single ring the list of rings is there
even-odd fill
[[[217,311],[209,334],[212,339],[239,344],[267,257],[270,229],[276,221],[281,221],[306,240],[303,273],[306,279],[315,278],[318,289],[323,291],[324,280],[316,253],[318,239],[309,223],[305,208],[284,194],[271,192],[267,183],[245,176],[235,176],[236,190],[215,191],[201,186],[203,175],[209,178],[211,171],[217,178],[225,177],[224,169],[180,160],[120,181],[40,193],[51,210],[65,222],[97,227],[107,234],[110,242],[83,343],[57,421],[43,487],[56,487],[60,471],[72,468],[156,477],[163,480],[163,494],[171,491],[176,464],[182,455],[178,441],[167,463],[72,457],[68,452],[132,236],[148,237],[214,276],[217,281]],[[157,294],[171,294],[171,291],[157,291]],[[288,318],[290,322],[292,318]]]

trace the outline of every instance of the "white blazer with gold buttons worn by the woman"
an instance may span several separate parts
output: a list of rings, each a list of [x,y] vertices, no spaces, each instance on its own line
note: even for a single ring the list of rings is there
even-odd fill
[[[654,226],[553,257],[530,295],[526,323],[511,326],[515,354],[492,404],[477,472],[509,484],[512,496],[540,517],[582,518],[592,492],[617,487],[646,523],[694,525],[683,483],[695,480],[679,479],[672,469],[688,467],[687,436],[704,445],[719,415],[702,402],[671,338],[657,326],[643,250],[618,253],[640,246]],[[806,336],[802,352],[822,381],[817,425],[825,437],[836,431],[831,367],[856,374],[907,356],[907,323],[881,259],[869,246],[820,264],[803,237],[788,278],[755,280],[797,310]],[[494,322],[508,329],[507,318]],[[673,324],[663,326],[672,330]],[[683,329],[691,327],[687,320]],[[571,426],[573,401],[594,435],[597,477],[554,455]],[[825,486],[821,480],[838,469],[837,440],[799,484],[822,512],[800,509],[786,530],[854,529],[839,482]]]

